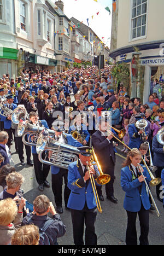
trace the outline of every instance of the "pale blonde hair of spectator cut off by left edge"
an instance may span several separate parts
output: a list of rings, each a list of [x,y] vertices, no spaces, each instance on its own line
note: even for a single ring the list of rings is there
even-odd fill
[[[17,215],[17,205],[13,199],[7,198],[0,201],[0,225],[7,226]]]

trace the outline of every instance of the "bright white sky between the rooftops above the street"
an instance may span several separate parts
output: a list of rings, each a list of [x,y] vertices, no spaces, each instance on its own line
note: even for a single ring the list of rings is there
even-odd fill
[[[106,46],[110,48],[110,36],[112,27],[112,0],[62,0],[64,13],[71,19],[74,17],[87,25],[97,34]],[[109,7],[111,14],[105,9]],[[97,15],[97,13],[99,14]],[[93,19],[92,19],[93,16]],[[104,38],[103,38],[104,37]]]

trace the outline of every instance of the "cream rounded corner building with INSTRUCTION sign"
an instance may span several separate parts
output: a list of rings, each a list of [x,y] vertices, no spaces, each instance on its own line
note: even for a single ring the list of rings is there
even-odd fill
[[[163,8],[162,0],[116,0],[113,12],[112,20],[116,24],[112,25],[110,57],[117,63],[129,63],[132,71],[133,56],[139,55],[139,63],[144,67],[143,102],[148,101],[151,75],[158,69],[163,72]],[[139,74],[136,80],[131,72],[131,97],[139,96],[139,80]]]

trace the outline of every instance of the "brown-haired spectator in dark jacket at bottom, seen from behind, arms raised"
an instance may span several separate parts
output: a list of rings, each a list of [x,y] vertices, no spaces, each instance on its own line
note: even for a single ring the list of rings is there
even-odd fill
[[[45,238],[44,245],[58,245],[57,237],[65,235],[66,226],[63,224],[60,215],[56,213],[52,202],[50,202],[47,196],[39,195],[33,201],[33,209],[34,211],[31,214],[27,214],[22,220],[22,225],[33,223],[39,229],[42,228]],[[52,214],[52,219],[48,217],[49,212]],[[46,229],[44,229],[45,225]]]

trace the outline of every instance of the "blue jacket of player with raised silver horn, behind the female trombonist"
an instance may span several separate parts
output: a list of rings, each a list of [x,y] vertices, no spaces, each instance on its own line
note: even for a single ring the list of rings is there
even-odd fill
[[[147,134],[147,132],[145,132]],[[135,126],[135,124],[128,125],[128,134],[130,136],[130,141],[128,144],[128,147],[132,148],[138,148],[140,147],[140,144],[142,143],[142,140],[140,139],[140,135],[138,135],[138,130]]]

